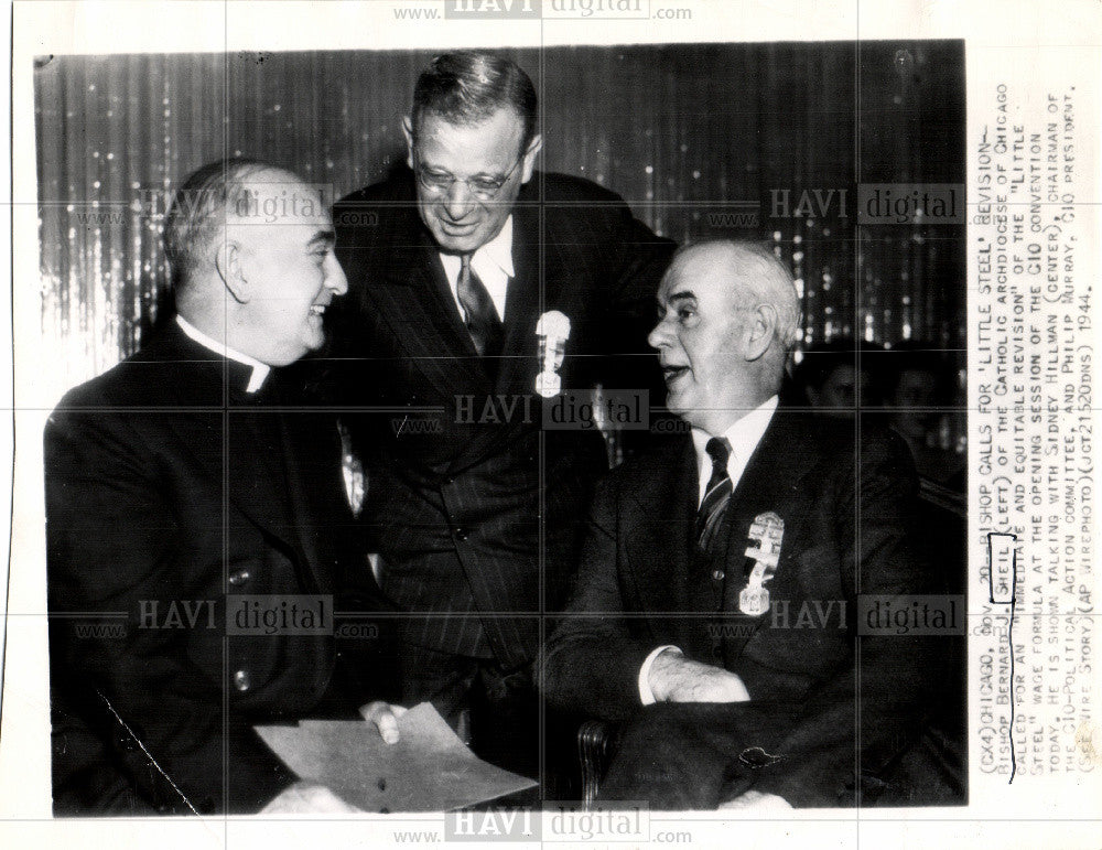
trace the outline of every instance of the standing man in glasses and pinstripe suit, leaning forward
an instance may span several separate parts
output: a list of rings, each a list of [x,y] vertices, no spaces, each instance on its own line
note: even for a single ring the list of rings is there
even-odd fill
[[[544,431],[536,326],[571,322],[566,390],[646,387],[646,334],[672,244],[588,181],[536,171],[528,75],[437,57],[404,121],[409,171],[335,212],[342,406],[368,471],[385,592],[406,612],[401,695],[430,699],[491,761],[532,774],[531,661],[574,569],[596,429]]]

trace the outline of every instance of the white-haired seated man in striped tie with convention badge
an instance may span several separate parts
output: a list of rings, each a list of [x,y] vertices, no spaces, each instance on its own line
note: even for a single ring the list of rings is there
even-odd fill
[[[629,721],[599,798],[961,801],[928,715],[939,649],[962,638],[856,637],[877,601],[938,590],[914,545],[906,446],[778,409],[799,309],[767,250],[683,249],[658,303],[650,343],[691,438],[598,486],[543,665],[553,703]]]

